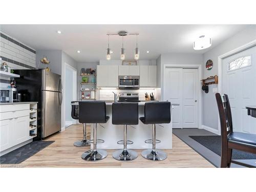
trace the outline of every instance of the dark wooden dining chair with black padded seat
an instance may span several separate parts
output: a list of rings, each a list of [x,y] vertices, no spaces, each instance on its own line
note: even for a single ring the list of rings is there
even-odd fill
[[[230,167],[231,163],[247,167],[255,167],[238,161],[233,161],[232,150],[239,150],[256,154],[256,135],[233,132],[232,115],[228,96],[216,93],[216,100],[221,124],[221,167]]]

